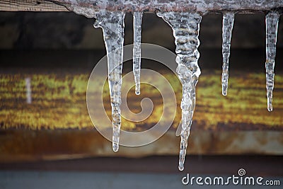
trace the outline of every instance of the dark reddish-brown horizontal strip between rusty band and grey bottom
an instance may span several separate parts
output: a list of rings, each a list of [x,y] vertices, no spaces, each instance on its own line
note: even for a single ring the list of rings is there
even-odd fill
[[[283,156],[196,156],[188,155],[185,167],[190,174],[237,174],[246,169],[249,176],[282,176]],[[111,171],[138,173],[180,173],[178,156],[96,157],[60,161],[36,161],[4,164],[0,170],[33,171]],[[185,174],[184,173],[184,174]]]

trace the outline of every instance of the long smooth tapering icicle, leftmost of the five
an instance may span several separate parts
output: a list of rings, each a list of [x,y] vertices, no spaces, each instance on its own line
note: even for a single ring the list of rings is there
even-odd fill
[[[120,104],[122,86],[122,61],[124,43],[123,12],[100,11],[97,14],[94,27],[103,29],[104,42],[108,56],[108,83],[112,108],[112,148],[119,149],[121,126]]]

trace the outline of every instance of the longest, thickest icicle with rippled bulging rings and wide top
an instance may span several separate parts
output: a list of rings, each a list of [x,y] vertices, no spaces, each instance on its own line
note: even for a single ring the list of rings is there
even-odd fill
[[[200,21],[202,16],[199,13],[177,13],[166,12],[157,13],[171,28],[175,37],[177,53],[176,62],[178,64],[177,74],[183,85],[183,96],[181,102],[182,109],[182,131],[180,142],[179,169],[183,171],[185,154],[187,150],[187,139],[190,134],[192,115],[195,110],[195,86],[200,76],[200,67],[197,60],[200,53],[197,47],[200,45],[198,39]]]

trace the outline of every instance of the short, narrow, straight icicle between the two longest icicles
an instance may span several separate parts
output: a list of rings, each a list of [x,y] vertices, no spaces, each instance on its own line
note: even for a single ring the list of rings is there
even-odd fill
[[[133,71],[134,82],[136,83],[136,94],[140,94],[140,73],[141,73],[141,18],[142,12],[134,12],[134,50],[133,50]]]

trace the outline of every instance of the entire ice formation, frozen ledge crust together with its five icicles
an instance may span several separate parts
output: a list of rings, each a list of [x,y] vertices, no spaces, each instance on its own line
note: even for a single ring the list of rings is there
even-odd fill
[[[200,45],[198,39],[200,21],[205,13],[213,8],[219,8],[223,13],[222,28],[222,94],[226,96],[229,78],[229,56],[231,47],[231,33],[233,30],[233,20],[236,10],[242,8],[262,10],[282,7],[283,0],[280,1],[258,1],[258,0],[223,0],[216,1],[212,4],[210,1],[178,1],[161,2],[152,1],[151,6],[156,4],[159,12],[158,16],[162,17],[171,28],[175,37],[175,45],[177,53],[176,62],[178,64],[177,74],[183,85],[183,96],[181,102],[182,109],[182,129],[180,142],[179,169],[184,168],[185,154],[187,150],[187,139],[190,134],[190,126],[192,124],[192,115],[195,109],[195,88],[200,76],[200,68],[197,61],[200,57],[197,47]],[[144,10],[149,10],[149,6],[144,2],[136,1],[118,1],[120,11],[115,11],[115,2],[113,1],[97,1],[92,7],[79,6],[79,1],[70,0],[69,9],[83,14],[88,18],[96,18],[94,26],[103,29],[105,46],[108,55],[108,82],[110,87],[110,99],[112,106],[112,147],[114,151],[119,149],[120,135],[120,104],[121,104],[121,85],[122,85],[122,57],[124,42],[124,11],[133,11],[134,15],[134,49],[133,49],[133,72],[136,84],[136,94],[140,93],[140,69],[141,69],[141,18]],[[198,6],[195,6],[197,4]],[[94,8],[96,7],[96,8]],[[189,9],[184,9],[190,7]],[[191,8],[193,7],[193,8]],[[227,7],[230,7],[227,9]],[[175,8],[175,9],[174,9]],[[100,10],[101,9],[101,10]],[[100,10],[100,11],[98,11]],[[106,11],[108,10],[108,11]],[[175,12],[171,12],[171,11]],[[186,10],[186,11],[184,11]],[[227,11],[229,10],[229,11]],[[151,10],[152,11],[152,10]],[[182,12],[183,11],[183,12]],[[193,11],[193,12],[192,12]],[[266,88],[267,88],[267,109],[272,110],[272,90],[274,88],[274,67],[276,54],[276,40],[278,28],[279,13],[270,11],[267,13],[266,22]]]

